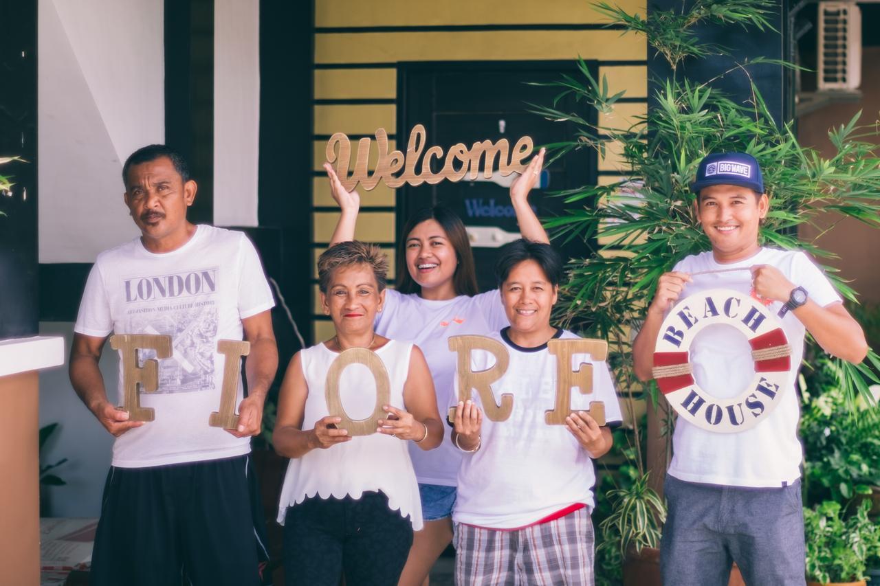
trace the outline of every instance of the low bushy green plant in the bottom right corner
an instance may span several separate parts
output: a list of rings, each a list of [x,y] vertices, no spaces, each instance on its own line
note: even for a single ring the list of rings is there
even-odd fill
[[[880,527],[870,520],[868,509],[870,503],[862,502],[847,519],[840,502],[825,501],[803,509],[810,586],[864,586],[867,561],[880,554]]]

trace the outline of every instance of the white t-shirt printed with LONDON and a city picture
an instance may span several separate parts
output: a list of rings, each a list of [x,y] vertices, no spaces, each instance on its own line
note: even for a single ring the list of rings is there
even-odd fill
[[[208,425],[220,408],[224,355],[218,340],[242,340],[241,320],[275,305],[260,259],[244,233],[198,225],[185,245],[150,253],[140,238],[98,255],[85,284],[74,332],[168,334],[172,357],[158,361],[156,392],[142,392],[155,420],[117,437],[113,465],[155,465],[231,458],[251,450]],[[154,358],[144,350],[142,359]],[[119,366],[122,404],[122,362]],[[110,394],[109,392],[107,393]],[[243,386],[238,381],[238,402]],[[112,400],[112,399],[111,399]]]

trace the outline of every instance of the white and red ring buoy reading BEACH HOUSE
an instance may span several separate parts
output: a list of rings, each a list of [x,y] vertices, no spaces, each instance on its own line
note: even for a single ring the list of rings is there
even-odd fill
[[[690,363],[704,327],[734,326],[752,347],[755,376],[736,397],[719,399],[697,384]],[[792,385],[791,346],[771,311],[748,295],[710,289],[678,302],[664,319],[654,348],[657,387],[679,417],[702,429],[737,433],[766,419]]]

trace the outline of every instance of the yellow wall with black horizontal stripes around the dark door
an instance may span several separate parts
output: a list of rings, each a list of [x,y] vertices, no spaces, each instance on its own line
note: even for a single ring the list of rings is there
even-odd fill
[[[620,7],[644,14],[644,0]],[[372,136],[396,128],[400,62],[598,61],[611,92],[625,90],[626,103],[600,116],[604,126],[629,125],[647,111],[647,48],[643,38],[622,35],[586,0],[316,0],[314,4],[314,99],[312,135],[312,255],[326,249],[338,216],[321,169],[334,132]],[[620,179],[611,148],[598,161],[598,180]],[[392,260],[396,238],[394,190],[380,184],[362,193],[356,237],[380,243]],[[314,267],[314,263],[312,263]],[[315,270],[315,269],[313,269]],[[326,340],[333,326],[319,308],[312,273],[312,339]]]

